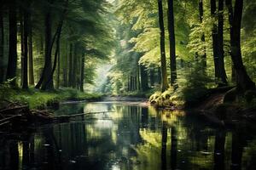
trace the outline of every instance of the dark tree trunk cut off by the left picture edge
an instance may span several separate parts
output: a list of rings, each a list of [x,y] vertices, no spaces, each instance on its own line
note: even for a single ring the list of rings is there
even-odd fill
[[[0,83],[4,82],[3,46],[4,46],[3,7],[0,6],[0,72],[1,72]]]

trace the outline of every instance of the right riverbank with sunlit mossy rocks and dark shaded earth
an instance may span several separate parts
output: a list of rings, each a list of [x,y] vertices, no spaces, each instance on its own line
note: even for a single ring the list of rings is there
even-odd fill
[[[243,121],[256,122],[255,92],[237,95],[235,90],[234,87],[223,87],[158,92],[149,98],[149,102],[163,110],[185,110],[220,127]]]

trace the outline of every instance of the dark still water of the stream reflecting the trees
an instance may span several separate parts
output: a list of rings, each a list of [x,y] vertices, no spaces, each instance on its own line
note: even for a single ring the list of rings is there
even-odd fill
[[[56,115],[114,111],[0,137],[0,169],[256,169],[255,127],[213,128],[183,111],[111,103],[61,105]]]

